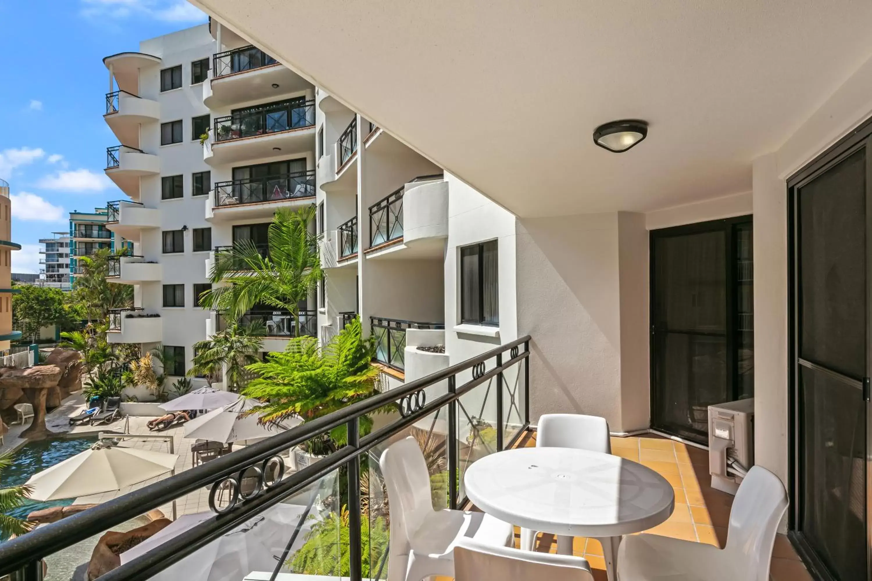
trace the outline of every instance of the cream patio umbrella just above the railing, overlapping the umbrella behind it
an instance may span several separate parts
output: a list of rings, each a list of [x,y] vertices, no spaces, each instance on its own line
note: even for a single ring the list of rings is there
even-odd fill
[[[240,398],[223,408],[198,415],[185,424],[185,437],[221,443],[253,443],[276,436],[302,422],[296,419],[282,422],[279,426],[262,426],[257,423],[257,414],[244,415],[257,405],[260,404],[256,400]]]

